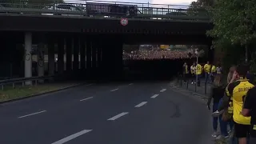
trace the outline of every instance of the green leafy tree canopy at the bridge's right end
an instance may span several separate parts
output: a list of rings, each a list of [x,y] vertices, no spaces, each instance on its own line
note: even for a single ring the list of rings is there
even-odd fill
[[[215,43],[246,45],[253,42],[255,34],[256,1],[215,0],[210,9],[214,29],[207,34]]]

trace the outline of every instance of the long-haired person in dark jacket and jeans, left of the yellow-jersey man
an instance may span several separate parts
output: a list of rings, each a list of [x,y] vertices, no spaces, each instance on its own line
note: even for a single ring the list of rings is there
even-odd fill
[[[211,89],[210,97],[208,98],[207,106],[210,110],[210,102],[211,99],[214,99],[214,104],[213,104],[213,112],[218,110],[219,102],[221,101],[223,95],[225,92],[225,86],[222,83],[222,75],[217,74],[214,78],[214,86]],[[220,122],[220,128],[222,134],[218,136],[217,133],[217,128],[218,128],[218,120]],[[219,115],[219,117],[214,117],[213,118],[213,127],[214,127],[214,134],[212,136],[214,138],[228,138],[229,134],[227,133],[226,127],[227,127],[227,122],[222,121],[222,114]]]

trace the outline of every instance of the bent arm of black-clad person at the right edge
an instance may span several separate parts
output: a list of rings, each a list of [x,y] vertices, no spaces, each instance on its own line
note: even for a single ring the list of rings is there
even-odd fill
[[[242,109],[242,115],[245,117],[250,117],[250,110],[254,105],[253,93],[254,93],[254,88],[250,89],[246,94],[245,102],[243,104],[243,109]]]

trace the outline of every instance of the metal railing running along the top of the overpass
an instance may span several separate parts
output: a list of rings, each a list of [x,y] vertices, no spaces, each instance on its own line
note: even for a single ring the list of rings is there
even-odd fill
[[[74,6],[74,9],[63,10],[58,8],[59,4]],[[0,0],[0,13],[15,13],[15,14],[42,14],[42,15],[62,15],[66,16],[85,16],[85,17],[102,17],[102,18],[165,18],[165,19],[209,19],[206,10],[190,10],[181,8],[165,8],[165,7],[150,7],[150,6],[131,6],[118,5],[111,3],[87,2],[82,3],[46,3],[33,1],[27,3],[24,0],[20,1],[2,1]],[[47,9],[53,6],[51,9]],[[133,10],[131,10],[133,9]],[[72,15],[74,14],[74,15]]]

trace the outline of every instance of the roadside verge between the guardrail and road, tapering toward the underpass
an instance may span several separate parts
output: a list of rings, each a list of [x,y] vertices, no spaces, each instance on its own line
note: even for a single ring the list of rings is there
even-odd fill
[[[5,86],[0,90],[0,102],[7,102],[19,98],[27,98],[34,95],[45,94],[52,91],[63,90],[73,86],[79,86],[82,82],[54,82],[43,83],[33,86]]]

